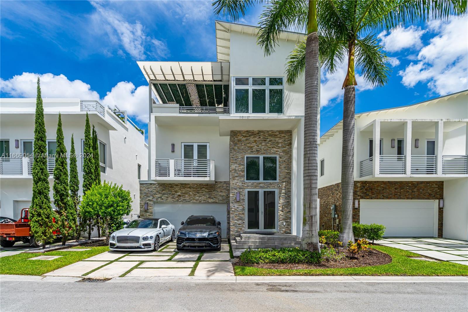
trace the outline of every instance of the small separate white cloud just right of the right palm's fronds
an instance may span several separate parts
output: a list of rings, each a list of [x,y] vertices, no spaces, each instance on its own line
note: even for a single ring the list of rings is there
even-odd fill
[[[426,32],[421,27],[411,25],[407,28],[397,27],[391,30],[390,33],[382,31],[378,37],[380,37],[381,44],[385,51],[398,52],[407,48],[420,48],[423,46],[421,36]]]

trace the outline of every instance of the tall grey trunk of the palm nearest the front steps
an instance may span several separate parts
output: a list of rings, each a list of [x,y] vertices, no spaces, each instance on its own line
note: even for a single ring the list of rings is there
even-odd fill
[[[318,199],[318,105],[319,105],[319,37],[317,34],[316,1],[309,1],[309,33],[306,41],[304,99],[304,219],[301,249],[319,251]]]

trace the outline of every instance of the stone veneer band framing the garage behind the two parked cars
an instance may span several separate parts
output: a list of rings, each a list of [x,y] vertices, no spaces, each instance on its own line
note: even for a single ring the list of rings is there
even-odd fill
[[[145,211],[145,202],[148,210]],[[140,183],[140,217],[153,217],[154,202],[229,203],[229,181],[214,184]],[[229,237],[229,209],[227,235]]]

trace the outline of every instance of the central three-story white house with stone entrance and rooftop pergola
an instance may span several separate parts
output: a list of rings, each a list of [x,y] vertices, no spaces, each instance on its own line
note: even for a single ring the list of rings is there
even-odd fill
[[[232,240],[259,232],[296,239],[304,80],[286,84],[285,60],[305,35],[282,32],[265,56],[256,27],[215,27],[216,62],[138,62],[151,90],[140,214],[176,228],[190,215],[214,215]]]

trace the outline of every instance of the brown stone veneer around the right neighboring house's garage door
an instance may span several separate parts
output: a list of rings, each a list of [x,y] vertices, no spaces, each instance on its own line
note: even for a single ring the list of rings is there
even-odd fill
[[[341,216],[341,183],[319,188],[319,229],[331,229],[330,206],[336,204]],[[439,200],[444,198],[444,181],[354,181],[353,198],[358,200]],[[360,205],[360,204],[359,204]],[[353,222],[359,222],[359,208],[352,210]],[[340,219],[341,221],[341,219]],[[438,236],[442,237],[444,210],[439,208]]]

